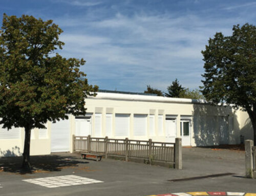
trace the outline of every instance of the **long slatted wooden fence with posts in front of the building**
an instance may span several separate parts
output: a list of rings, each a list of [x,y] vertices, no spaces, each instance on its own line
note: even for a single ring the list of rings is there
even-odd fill
[[[182,168],[181,139],[176,138],[175,143],[153,142],[151,139],[129,140],[92,138],[89,136],[73,135],[73,153],[87,152],[128,159],[143,159],[149,164],[152,161],[173,164],[175,168]]]

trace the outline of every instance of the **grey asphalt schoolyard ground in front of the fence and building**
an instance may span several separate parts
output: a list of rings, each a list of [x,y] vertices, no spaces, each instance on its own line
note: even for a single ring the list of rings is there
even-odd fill
[[[20,157],[0,158],[0,188],[3,187],[0,195],[256,193],[256,180],[244,178],[244,151],[183,148],[182,170],[112,159],[96,162],[80,159],[79,155],[61,153],[31,157],[37,170],[32,174],[20,174],[21,162]],[[206,178],[228,172],[234,174]],[[199,176],[205,178],[187,179]]]

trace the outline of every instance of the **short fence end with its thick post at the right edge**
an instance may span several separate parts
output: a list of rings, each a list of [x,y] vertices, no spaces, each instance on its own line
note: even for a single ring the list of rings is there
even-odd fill
[[[245,176],[256,178],[256,146],[252,140],[245,140]]]

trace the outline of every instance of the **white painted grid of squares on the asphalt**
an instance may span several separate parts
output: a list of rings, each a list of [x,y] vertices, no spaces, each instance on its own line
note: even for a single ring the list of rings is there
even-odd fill
[[[28,183],[44,186],[47,188],[56,188],[62,186],[73,186],[73,185],[84,185],[84,184],[93,184],[93,183],[103,183],[103,181],[94,180],[90,178],[83,178],[79,176],[69,175],[69,176],[57,176],[57,177],[48,177],[48,178],[37,178],[23,180]],[[0,187],[2,188],[2,187]],[[183,196],[183,195],[182,195]]]

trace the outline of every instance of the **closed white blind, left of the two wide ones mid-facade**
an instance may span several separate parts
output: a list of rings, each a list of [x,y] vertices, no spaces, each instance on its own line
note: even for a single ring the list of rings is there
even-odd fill
[[[115,115],[115,135],[128,136],[130,132],[130,114]]]

